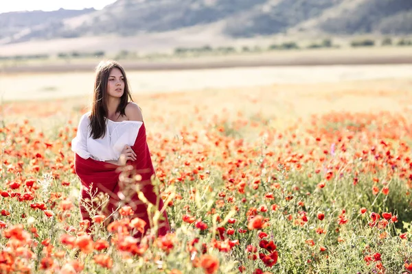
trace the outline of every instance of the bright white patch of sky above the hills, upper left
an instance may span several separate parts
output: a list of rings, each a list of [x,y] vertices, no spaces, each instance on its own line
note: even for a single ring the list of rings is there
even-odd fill
[[[0,13],[17,12],[22,10],[82,10],[95,8],[101,10],[105,5],[116,0],[0,0]]]

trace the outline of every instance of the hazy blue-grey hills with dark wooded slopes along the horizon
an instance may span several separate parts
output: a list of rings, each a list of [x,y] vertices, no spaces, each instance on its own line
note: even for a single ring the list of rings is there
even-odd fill
[[[117,0],[102,10],[0,14],[0,44],[211,26],[230,38],[290,32],[412,34],[412,1]]]

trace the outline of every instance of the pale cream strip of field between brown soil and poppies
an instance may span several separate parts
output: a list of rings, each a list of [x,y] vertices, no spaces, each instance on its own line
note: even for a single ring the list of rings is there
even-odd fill
[[[209,92],[214,89],[385,80],[396,88],[400,79],[412,79],[412,65],[273,66],[259,68],[198,69],[184,71],[126,71],[135,95],[165,92]],[[70,73],[8,73],[0,75],[3,101],[62,99],[91,95],[93,71]],[[402,80],[404,81],[404,80]],[[346,84],[345,84],[346,83]]]

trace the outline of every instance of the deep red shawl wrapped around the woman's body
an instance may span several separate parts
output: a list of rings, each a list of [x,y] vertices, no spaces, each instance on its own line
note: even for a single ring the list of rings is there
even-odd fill
[[[144,127],[144,123],[139,129],[139,134],[137,134],[137,138],[135,140],[135,144],[132,146],[132,149],[137,154],[137,160],[128,160],[126,164],[132,165],[133,171],[141,176],[141,180],[139,182],[136,182],[135,184],[137,184],[140,190],[144,193],[146,199],[148,199],[150,203],[153,203],[155,205],[158,203],[159,210],[161,210],[163,208],[163,201],[153,191],[153,185],[151,181],[152,176],[155,176],[155,169],[153,169],[152,160],[150,158],[150,151],[146,142],[146,128]],[[90,199],[87,188],[90,188],[91,183],[93,183],[93,186],[91,188],[92,193],[95,193],[95,191],[97,190],[98,192],[104,192],[110,195],[110,200],[108,202],[108,206],[106,207],[106,216],[117,209],[118,203],[119,201],[121,201],[119,194],[122,193],[122,190],[126,193],[132,193],[132,195],[126,194],[126,196],[131,197],[127,197],[125,199],[125,206],[130,206],[135,212],[133,216],[130,216],[130,219],[139,217],[140,219],[146,221],[146,227],[144,228],[144,231],[146,233],[147,229],[150,228],[147,206],[145,203],[139,200],[137,194],[133,195],[133,193],[136,192],[131,191],[130,188],[126,190],[126,187],[124,187],[123,183],[119,184],[119,166],[107,162],[93,160],[92,158],[84,160],[76,153],[74,169],[78,177],[80,177],[80,181],[82,182],[82,199]],[[120,194],[120,197],[122,197],[123,195]],[[158,199],[159,201],[157,201]],[[82,214],[82,219],[89,220],[90,223],[93,223],[91,216],[89,216],[82,203],[80,203],[79,206],[80,212]],[[158,233],[159,236],[163,236],[168,232],[170,232],[170,225],[168,222],[168,216],[164,210],[163,220],[159,221]],[[135,236],[140,237],[141,234],[138,233]]]

